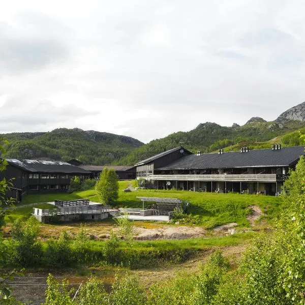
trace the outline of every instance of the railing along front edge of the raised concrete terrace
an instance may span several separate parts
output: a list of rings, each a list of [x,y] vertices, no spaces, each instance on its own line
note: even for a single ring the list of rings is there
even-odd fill
[[[109,212],[109,205],[78,205],[78,206],[67,206],[59,208],[41,209],[33,208],[33,215],[41,216],[57,216],[57,215],[68,215],[68,214],[102,214],[103,212]]]

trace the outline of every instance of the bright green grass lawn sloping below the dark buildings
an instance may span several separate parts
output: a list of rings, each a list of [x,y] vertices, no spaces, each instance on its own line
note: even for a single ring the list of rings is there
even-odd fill
[[[124,193],[130,184],[134,181],[119,181],[119,198],[114,206],[117,207],[142,207],[142,203],[137,196],[146,197],[173,197],[190,202],[188,213],[199,215],[200,225],[206,228],[235,222],[239,226],[249,226],[247,216],[250,214],[249,205],[258,205],[265,213],[264,218],[267,221],[275,219],[282,208],[283,200],[281,197],[263,196],[263,195],[241,195],[238,193],[217,194],[217,193],[197,193],[188,191],[166,191],[166,190],[142,190],[139,192]],[[22,205],[29,205],[38,202],[49,202],[55,199],[72,200],[79,198],[88,198],[90,201],[99,201],[94,189],[79,191],[72,194],[38,194],[24,196]],[[31,206],[32,208],[33,206]],[[20,215],[27,214],[26,208],[20,209]]]

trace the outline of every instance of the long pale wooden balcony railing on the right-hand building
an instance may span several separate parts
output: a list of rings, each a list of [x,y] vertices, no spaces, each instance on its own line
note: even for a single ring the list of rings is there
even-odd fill
[[[242,174],[242,175],[153,175],[145,176],[149,180],[168,181],[228,181],[228,182],[276,182],[277,174]]]

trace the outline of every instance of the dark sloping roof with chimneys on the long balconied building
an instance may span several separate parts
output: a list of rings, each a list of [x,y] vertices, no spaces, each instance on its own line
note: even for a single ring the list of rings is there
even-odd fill
[[[234,167],[290,166],[304,153],[305,146],[283,147],[282,149],[256,149],[247,153],[239,151],[224,154],[201,154],[182,157],[159,170],[205,169]]]

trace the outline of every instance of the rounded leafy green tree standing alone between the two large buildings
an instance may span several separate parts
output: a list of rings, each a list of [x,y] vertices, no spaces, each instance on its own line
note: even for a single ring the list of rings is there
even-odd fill
[[[113,169],[104,168],[96,184],[99,199],[104,204],[110,204],[118,198],[118,176]]]

